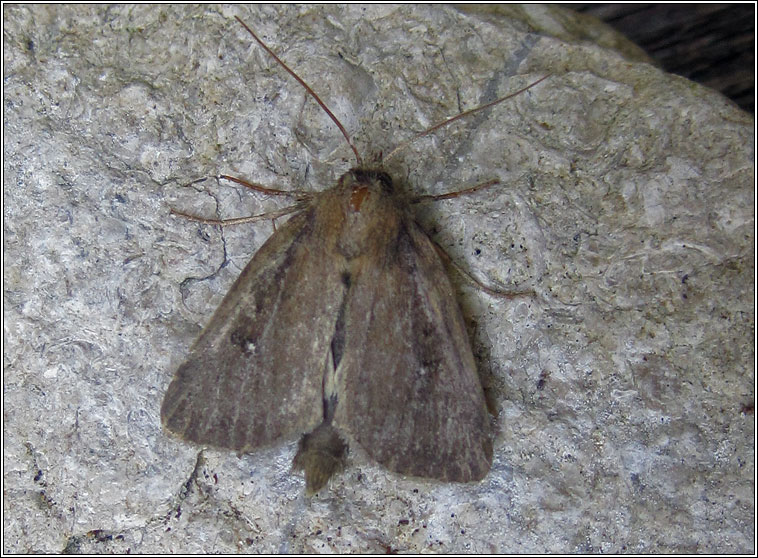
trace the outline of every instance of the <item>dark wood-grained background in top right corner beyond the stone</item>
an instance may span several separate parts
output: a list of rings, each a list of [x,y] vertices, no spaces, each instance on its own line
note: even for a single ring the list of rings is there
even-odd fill
[[[564,4],[620,31],[667,72],[755,114],[755,4]]]

